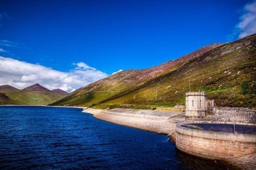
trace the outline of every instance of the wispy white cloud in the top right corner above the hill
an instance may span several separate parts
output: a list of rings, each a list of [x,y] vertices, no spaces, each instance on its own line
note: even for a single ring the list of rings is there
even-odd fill
[[[256,1],[244,6],[244,14],[237,25],[239,38],[256,33]]]

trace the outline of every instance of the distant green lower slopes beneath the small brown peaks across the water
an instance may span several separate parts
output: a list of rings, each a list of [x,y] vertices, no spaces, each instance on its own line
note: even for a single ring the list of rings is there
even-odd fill
[[[66,96],[54,92],[34,90],[2,89],[0,92],[6,93],[13,101],[12,104],[17,105],[48,105]],[[4,103],[0,101],[0,104]]]

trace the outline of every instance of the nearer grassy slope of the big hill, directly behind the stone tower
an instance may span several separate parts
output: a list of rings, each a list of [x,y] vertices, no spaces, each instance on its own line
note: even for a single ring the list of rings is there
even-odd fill
[[[224,51],[228,53],[221,55]],[[215,99],[219,106],[255,107],[255,94],[241,94],[240,85],[243,81],[255,81],[255,54],[255,41],[254,48],[241,51],[229,44],[222,45],[150,85],[105,103],[184,104],[190,78],[192,91],[206,91],[208,98]],[[156,89],[158,100],[154,101]]]

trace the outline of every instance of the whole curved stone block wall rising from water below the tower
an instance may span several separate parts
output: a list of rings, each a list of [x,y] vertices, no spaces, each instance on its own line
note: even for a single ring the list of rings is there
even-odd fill
[[[256,152],[256,134],[212,132],[176,126],[176,147],[206,159],[230,159]]]

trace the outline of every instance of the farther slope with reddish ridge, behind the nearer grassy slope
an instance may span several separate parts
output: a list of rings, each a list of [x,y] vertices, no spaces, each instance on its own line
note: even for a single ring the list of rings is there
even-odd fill
[[[125,70],[118,72],[115,75],[80,88],[68,95],[66,98],[51,105],[92,106],[95,105],[95,103],[102,102],[106,99],[116,98],[119,95],[130,93],[150,83],[154,78],[160,77],[161,75],[165,75],[166,73],[177,69],[183,64],[180,61],[188,61],[190,58],[203,54],[205,51],[208,51],[218,45],[219,44],[212,44],[210,46],[204,46],[189,55],[163,63],[160,66],[143,70]]]

